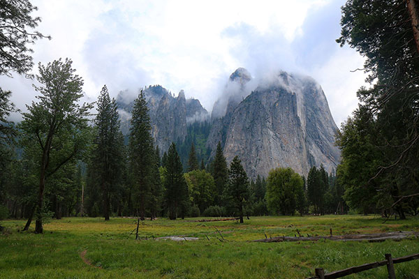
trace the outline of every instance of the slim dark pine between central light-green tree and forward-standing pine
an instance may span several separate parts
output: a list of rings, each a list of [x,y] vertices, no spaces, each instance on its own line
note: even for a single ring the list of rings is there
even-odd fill
[[[212,162],[212,177],[214,177],[216,188],[215,203],[221,206],[221,197],[228,183],[228,167],[220,142],[216,145],[216,153]]]

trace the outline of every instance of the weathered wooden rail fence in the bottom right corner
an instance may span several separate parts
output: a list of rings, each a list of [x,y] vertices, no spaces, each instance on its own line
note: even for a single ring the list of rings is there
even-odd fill
[[[342,269],[341,271],[335,271],[328,274],[325,274],[323,269],[315,269],[316,276],[307,278],[307,279],[341,278],[344,276],[351,275],[353,273],[358,273],[358,272],[366,271],[369,269],[375,269],[378,266],[385,266],[385,265],[387,266],[388,278],[396,279],[394,264],[399,264],[401,262],[409,262],[413,259],[419,259],[419,254],[410,255],[406,257],[398,257],[396,259],[393,259],[391,257],[391,254],[385,254],[385,261],[373,262],[371,264],[362,264],[361,266],[352,266],[348,269]]]

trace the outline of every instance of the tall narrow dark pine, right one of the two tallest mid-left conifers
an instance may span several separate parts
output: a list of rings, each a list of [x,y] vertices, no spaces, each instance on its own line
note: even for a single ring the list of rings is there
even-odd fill
[[[145,220],[147,202],[151,195],[154,165],[152,126],[148,112],[144,92],[140,91],[134,100],[128,147],[133,204],[141,220]]]

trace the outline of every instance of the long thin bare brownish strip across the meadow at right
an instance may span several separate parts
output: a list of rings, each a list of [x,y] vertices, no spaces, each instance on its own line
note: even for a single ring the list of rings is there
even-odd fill
[[[386,239],[399,241],[408,237],[419,237],[419,232],[383,232],[381,234],[344,234],[340,236],[277,236],[270,239],[258,239],[254,242],[282,242],[282,241],[318,241],[318,240],[332,240],[332,241],[368,241],[381,242]]]

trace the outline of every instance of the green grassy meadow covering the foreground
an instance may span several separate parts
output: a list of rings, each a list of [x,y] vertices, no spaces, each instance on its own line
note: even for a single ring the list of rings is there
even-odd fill
[[[24,220],[6,220],[0,235],[0,278],[307,278],[314,268],[326,272],[381,261],[390,252],[402,257],[419,252],[417,239],[404,241],[301,241],[254,243],[270,236],[311,236],[419,231],[418,218],[388,220],[373,216],[253,217],[197,223],[186,220],[145,221],[140,237],[128,236],[135,220],[64,218],[45,224],[45,233],[18,232]],[[226,241],[219,241],[216,229]],[[199,241],[155,241],[159,236],[196,236]],[[207,235],[210,241],[207,240]],[[147,239],[147,240],[146,240]],[[93,266],[82,262],[80,252]],[[396,264],[397,278],[419,278],[419,260]],[[385,266],[346,278],[387,278]]]

